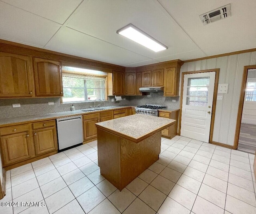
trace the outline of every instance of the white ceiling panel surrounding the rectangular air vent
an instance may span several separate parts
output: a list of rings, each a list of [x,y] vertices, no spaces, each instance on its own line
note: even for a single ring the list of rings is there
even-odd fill
[[[256,47],[256,1],[159,0],[208,56]],[[203,26],[199,15],[231,3],[231,17]],[[191,10],[193,8],[193,10]]]

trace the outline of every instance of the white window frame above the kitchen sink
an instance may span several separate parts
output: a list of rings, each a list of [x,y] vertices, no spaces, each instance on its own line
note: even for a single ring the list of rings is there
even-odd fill
[[[108,100],[108,75],[99,75],[99,74],[92,74],[92,73],[83,73],[83,72],[76,72],[76,71],[66,71],[64,69],[62,69],[62,77],[63,76],[73,76],[75,77],[99,77],[99,78],[104,78],[104,82],[105,82],[105,96],[104,96],[104,100],[102,101],[107,101]],[[86,80],[84,80],[84,97],[86,97],[87,94],[87,90],[86,90]],[[63,83],[62,83],[62,87],[63,87]],[[88,88],[87,88],[88,89]],[[95,89],[95,88],[89,88],[89,89]],[[61,104],[68,104],[68,103],[81,103],[81,102],[94,102],[94,100],[84,100],[84,101],[71,101],[71,102],[63,102],[63,96],[60,98],[60,103]]]

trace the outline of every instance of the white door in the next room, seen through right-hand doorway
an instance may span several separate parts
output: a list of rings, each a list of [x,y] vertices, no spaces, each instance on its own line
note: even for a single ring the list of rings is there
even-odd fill
[[[256,125],[256,78],[247,78],[242,123]]]

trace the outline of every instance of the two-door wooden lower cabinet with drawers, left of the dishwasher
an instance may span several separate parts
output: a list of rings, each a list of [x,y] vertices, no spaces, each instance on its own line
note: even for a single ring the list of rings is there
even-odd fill
[[[0,151],[3,167],[9,169],[57,153],[55,120],[0,128]]]

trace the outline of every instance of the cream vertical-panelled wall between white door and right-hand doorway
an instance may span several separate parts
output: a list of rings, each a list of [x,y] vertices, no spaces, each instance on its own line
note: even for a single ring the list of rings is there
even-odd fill
[[[229,84],[228,94],[220,94],[223,100],[217,100],[213,141],[234,145],[242,75],[247,65],[256,65],[256,52],[188,62],[181,67],[181,72],[219,68],[218,83]]]

